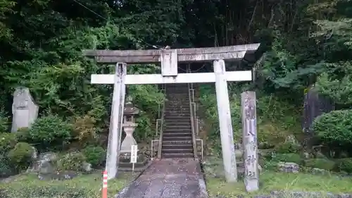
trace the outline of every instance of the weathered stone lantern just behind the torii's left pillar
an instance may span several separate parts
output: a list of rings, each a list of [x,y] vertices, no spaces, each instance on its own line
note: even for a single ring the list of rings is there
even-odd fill
[[[132,103],[132,97],[127,97],[125,103],[125,109],[123,110],[123,123],[122,128],[125,131],[125,139],[121,144],[121,154],[127,154],[131,152],[131,146],[137,145],[136,140],[134,140],[133,132],[137,128],[137,123],[135,123],[134,116],[139,113],[139,109]]]

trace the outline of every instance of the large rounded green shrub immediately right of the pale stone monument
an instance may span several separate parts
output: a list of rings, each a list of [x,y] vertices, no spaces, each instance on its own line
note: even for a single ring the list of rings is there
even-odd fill
[[[29,142],[40,151],[62,149],[70,141],[70,125],[56,115],[38,118],[28,131]]]

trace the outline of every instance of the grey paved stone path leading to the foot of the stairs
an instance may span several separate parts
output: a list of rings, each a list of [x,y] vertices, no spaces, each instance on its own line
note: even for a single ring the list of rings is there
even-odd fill
[[[155,160],[116,198],[207,198],[199,161]]]

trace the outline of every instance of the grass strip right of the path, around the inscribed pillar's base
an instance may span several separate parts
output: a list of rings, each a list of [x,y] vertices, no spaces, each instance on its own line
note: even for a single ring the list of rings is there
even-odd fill
[[[260,190],[247,193],[244,182],[229,184],[220,178],[206,178],[210,197],[222,195],[227,198],[238,195],[270,194],[272,190],[351,193],[352,178],[341,178],[337,175],[311,175],[308,173],[277,173],[265,171],[260,174]]]

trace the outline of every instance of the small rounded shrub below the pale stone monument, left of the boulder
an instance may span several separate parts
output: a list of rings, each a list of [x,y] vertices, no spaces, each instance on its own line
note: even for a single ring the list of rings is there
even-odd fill
[[[32,154],[34,149],[30,144],[25,142],[18,142],[15,148],[8,152],[9,161],[15,165],[15,168],[20,171],[28,168],[32,163]]]

